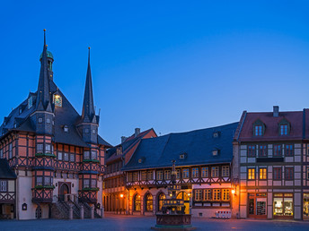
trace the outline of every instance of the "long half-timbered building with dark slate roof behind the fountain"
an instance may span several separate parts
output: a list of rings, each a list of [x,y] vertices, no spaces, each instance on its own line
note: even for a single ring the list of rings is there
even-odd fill
[[[123,167],[128,189],[128,213],[154,215],[162,210],[176,160],[178,198],[185,212],[214,217],[217,210],[232,211],[233,137],[238,123],[188,133],[170,133],[140,141]],[[235,204],[234,206],[237,206]]]

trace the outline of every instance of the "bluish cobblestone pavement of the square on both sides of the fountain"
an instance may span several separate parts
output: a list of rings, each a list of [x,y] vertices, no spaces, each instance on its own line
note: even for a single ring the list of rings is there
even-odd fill
[[[151,230],[154,217],[107,216],[102,219],[84,220],[1,220],[0,230]],[[197,230],[309,230],[307,221],[278,220],[223,220],[214,218],[193,218]]]

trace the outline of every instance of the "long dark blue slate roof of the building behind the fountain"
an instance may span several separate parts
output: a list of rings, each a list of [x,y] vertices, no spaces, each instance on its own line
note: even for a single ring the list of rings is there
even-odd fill
[[[142,140],[122,170],[171,167],[173,159],[176,160],[176,166],[230,163],[233,159],[233,138],[237,125],[238,123],[225,124]],[[220,135],[214,138],[213,133],[217,132]],[[212,155],[213,150],[219,150],[218,156]],[[187,158],[180,159],[183,153],[186,153]],[[143,159],[142,163],[138,163],[140,158]]]

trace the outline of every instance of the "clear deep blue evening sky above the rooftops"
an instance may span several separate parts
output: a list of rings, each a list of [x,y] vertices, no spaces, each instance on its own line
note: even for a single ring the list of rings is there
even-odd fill
[[[236,122],[309,107],[308,1],[5,1],[3,120],[38,86],[47,29],[54,81],[81,113],[92,47],[102,137]],[[2,121],[1,121],[2,122]]]

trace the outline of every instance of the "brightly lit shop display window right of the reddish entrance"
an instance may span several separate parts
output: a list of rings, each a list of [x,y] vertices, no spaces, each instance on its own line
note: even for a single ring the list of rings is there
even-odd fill
[[[293,193],[274,193],[274,216],[293,216]]]

